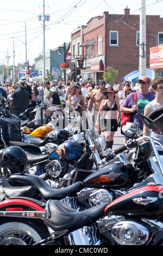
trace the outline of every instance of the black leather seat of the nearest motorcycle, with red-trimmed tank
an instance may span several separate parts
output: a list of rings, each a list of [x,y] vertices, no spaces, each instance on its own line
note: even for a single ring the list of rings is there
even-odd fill
[[[54,230],[76,229],[104,215],[106,205],[101,204],[78,212],[61,201],[51,200],[47,203],[43,221]]]

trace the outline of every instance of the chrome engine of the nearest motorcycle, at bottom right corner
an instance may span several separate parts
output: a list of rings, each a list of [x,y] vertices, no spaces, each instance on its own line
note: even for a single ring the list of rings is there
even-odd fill
[[[110,245],[162,245],[163,223],[157,220],[125,220],[113,215],[101,218],[97,226]]]

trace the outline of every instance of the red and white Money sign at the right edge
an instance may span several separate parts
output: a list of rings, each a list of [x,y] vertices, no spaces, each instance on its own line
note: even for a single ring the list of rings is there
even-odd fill
[[[163,46],[149,48],[149,52],[150,69],[163,68]]]

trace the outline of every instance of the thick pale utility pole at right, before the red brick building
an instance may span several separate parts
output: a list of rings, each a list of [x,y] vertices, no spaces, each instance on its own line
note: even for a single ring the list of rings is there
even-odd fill
[[[140,46],[139,46],[139,75],[146,75],[146,0],[141,0],[140,8]]]

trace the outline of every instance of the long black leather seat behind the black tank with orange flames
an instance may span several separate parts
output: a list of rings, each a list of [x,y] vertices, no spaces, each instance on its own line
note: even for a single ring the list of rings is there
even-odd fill
[[[68,187],[55,189],[49,187],[45,180],[39,176],[32,174],[12,174],[9,177],[9,182],[13,181],[23,181],[26,182],[26,184],[35,186],[45,200],[65,198],[83,187],[83,183],[79,181]]]

